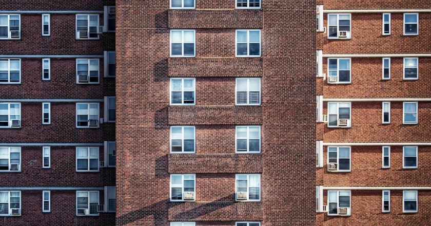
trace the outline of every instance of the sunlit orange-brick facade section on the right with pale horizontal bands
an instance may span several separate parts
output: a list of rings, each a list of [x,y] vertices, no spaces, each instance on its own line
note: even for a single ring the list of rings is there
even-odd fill
[[[317,1],[317,225],[428,225],[431,8]]]

